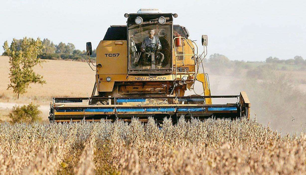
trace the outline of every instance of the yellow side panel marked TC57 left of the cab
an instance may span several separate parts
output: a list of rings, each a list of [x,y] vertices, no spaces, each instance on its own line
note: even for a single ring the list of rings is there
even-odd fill
[[[126,40],[100,41],[97,47],[97,74],[127,74]]]

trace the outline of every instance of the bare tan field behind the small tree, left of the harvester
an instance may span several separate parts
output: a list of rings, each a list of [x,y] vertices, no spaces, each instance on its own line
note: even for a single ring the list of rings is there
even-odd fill
[[[9,57],[0,56],[0,102],[29,103],[48,105],[53,96],[91,95],[95,82],[95,72],[87,63],[77,61],[45,60],[42,67],[34,71],[41,74],[46,84],[31,84],[27,93],[16,99],[13,90],[7,90],[9,79]]]

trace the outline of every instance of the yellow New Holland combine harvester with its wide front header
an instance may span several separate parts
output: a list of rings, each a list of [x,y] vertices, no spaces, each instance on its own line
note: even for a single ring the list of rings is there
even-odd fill
[[[249,118],[245,92],[211,95],[208,74],[199,71],[206,53],[199,55],[188,30],[173,24],[177,14],[140,9],[124,16],[127,25],[111,26],[100,41],[95,64],[91,43],[86,43],[88,64],[96,71],[91,97],[54,97],[50,121]],[[202,35],[204,49],[207,44]],[[196,81],[202,83],[203,95],[184,96]],[[237,103],[212,104],[212,98],[237,98]]]

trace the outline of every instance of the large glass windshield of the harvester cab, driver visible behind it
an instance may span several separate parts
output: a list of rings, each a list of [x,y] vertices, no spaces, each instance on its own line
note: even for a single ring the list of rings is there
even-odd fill
[[[171,69],[171,23],[129,24],[129,70]]]

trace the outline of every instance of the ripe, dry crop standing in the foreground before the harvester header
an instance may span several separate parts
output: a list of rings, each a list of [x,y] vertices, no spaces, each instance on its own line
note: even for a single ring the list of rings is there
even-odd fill
[[[253,119],[0,124],[2,174],[305,174],[305,151]]]

